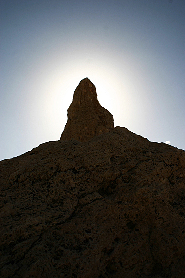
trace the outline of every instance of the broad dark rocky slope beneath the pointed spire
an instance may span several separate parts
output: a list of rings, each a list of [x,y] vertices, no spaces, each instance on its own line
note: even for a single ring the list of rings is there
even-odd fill
[[[0,162],[1,277],[185,276],[185,152],[126,128]]]

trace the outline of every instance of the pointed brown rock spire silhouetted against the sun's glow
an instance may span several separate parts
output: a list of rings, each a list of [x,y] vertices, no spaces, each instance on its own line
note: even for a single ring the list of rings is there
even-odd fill
[[[95,86],[88,78],[83,79],[74,91],[61,139],[87,141],[113,127],[113,116],[99,104]]]

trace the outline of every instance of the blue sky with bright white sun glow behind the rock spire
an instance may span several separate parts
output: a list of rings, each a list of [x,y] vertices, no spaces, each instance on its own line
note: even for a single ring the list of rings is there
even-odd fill
[[[184,0],[1,0],[0,160],[59,140],[88,77],[114,125],[185,150]]]

